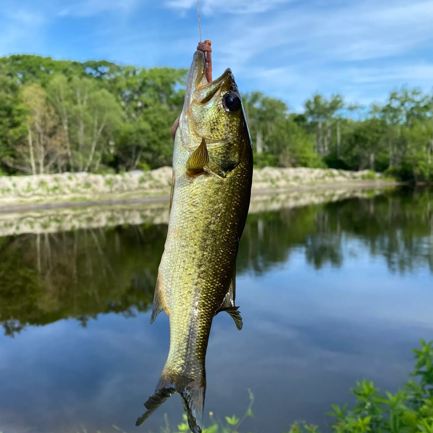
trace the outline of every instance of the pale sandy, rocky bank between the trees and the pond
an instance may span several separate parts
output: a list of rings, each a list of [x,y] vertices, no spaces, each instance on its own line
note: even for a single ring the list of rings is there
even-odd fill
[[[171,188],[171,167],[123,174],[61,173],[35,176],[1,176],[0,207],[16,204],[68,203],[92,200],[119,200],[132,197],[160,197]],[[252,193],[335,187],[346,184],[380,187],[395,184],[371,171],[344,171],[320,168],[255,169]],[[153,201],[153,200],[152,200]]]

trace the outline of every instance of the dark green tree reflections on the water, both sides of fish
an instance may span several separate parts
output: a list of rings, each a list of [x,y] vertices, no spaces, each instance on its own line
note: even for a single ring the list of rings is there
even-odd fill
[[[315,269],[341,267],[361,242],[391,272],[433,272],[433,190],[401,189],[371,199],[250,214],[238,275],[260,275],[301,251]],[[167,226],[118,226],[0,238],[0,323],[7,336],[29,325],[98,314],[133,316],[151,307]]]

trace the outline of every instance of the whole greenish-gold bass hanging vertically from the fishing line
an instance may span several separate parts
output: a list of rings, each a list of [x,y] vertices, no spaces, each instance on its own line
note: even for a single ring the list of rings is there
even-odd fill
[[[210,41],[205,41],[210,46]],[[200,42],[203,44],[203,42]],[[236,259],[248,215],[253,155],[242,97],[230,68],[209,81],[209,55],[197,46],[181,115],[172,136],[173,178],[168,232],[158,268],[150,322],[169,317],[170,348],[141,425],[174,393],[189,428],[201,433],[205,358],[213,317],[235,305]]]

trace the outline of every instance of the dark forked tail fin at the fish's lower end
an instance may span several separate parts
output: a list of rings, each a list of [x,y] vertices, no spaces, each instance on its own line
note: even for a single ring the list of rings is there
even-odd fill
[[[139,417],[136,426],[140,426],[159,406],[177,392],[181,394],[190,430],[193,433],[201,433],[205,390],[204,368],[198,380],[163,371],[155,394],[151,395],[144,404],[147,411]]]

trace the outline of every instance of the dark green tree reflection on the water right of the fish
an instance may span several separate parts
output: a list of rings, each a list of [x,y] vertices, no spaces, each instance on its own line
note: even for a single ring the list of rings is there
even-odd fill
[[[340,267],[350,239],[383,256],[391,272],[426,265],[433,272],[433,190],[402,188],[371,199],[249,215],[238,269],[260,274],[287,262],[298,248],[316,269]]]

